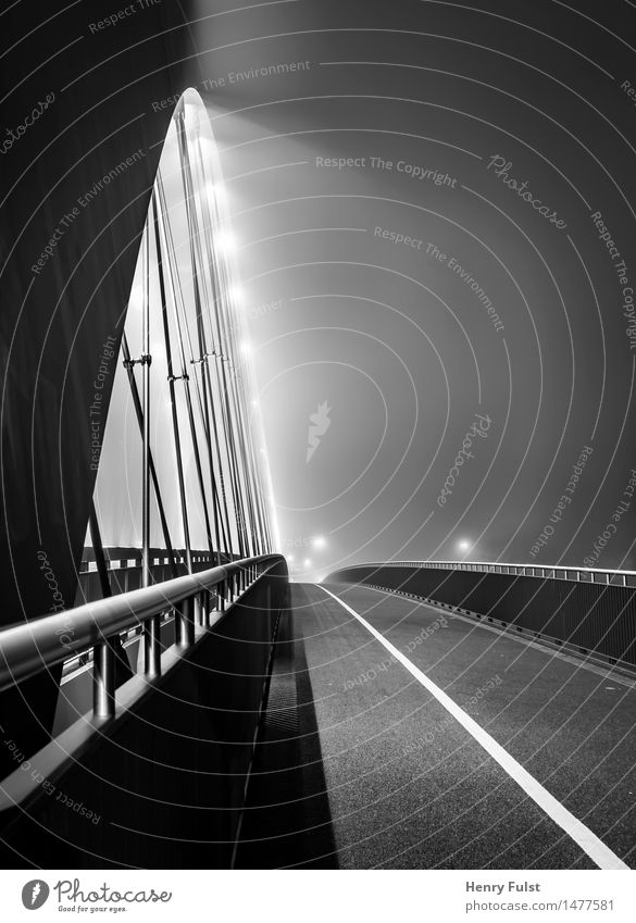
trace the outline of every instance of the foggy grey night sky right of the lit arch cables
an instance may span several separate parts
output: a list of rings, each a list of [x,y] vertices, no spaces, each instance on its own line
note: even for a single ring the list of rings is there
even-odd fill
[[[283,548],[633,569],[633,5],[201,11]]]

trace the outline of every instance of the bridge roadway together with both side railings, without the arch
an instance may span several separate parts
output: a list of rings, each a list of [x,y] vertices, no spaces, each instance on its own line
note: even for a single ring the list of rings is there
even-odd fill
[[[198,563],[0,635],[8,866],[633,868],[636,574]]]

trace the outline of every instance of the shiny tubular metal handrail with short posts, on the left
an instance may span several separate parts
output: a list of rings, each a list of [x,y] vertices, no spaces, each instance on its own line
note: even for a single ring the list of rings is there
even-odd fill
[[[246,558],[3,628],[0,631],[0,691],[92,647],[93,711],[97,716],[110,716],[114,714],[115,653],[109,641],[114,635],[139,626],[146,633],[150,620],[174,609],[176,645],[188,648],[195,639],[196,622],[204,627],[210,624],[212,590],[217,611],[224,612],[226,604],[253,581],[284,560],[280,554]],[[146,651],[149,677],[161,672],[159,633],[153,632],[152,637],[154,649]]]

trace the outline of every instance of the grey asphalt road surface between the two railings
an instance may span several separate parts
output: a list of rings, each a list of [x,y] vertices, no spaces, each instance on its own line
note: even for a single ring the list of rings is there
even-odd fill
[[[327,587],[510,768],[325,588],[291,589],[238,866],[596,868],[594,843],[578,845],[586,828],[636,866],[631,679],[402,597]],[[564,806],[574,836],[515,761]]]

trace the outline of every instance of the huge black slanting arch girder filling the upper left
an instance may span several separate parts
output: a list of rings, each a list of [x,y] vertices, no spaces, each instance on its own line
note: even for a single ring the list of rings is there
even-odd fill
[[[99,25],[112,5],[18,3],[1,21],[0,625],[73,606],[96,475],[90,424],[103,434],[171,115],[152,102],[191,82],[188,2],[135,4]],[[54,708],[42,682],[0,702],[23,734],[38,702],[34,741]]]

